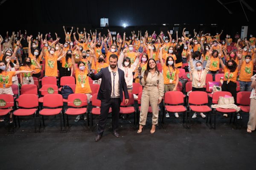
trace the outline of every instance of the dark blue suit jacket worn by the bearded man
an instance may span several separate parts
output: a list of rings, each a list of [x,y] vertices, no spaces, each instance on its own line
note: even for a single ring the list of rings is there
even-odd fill
[[[129,99],[129,94],[127,90],[127,85],[125,82],[125,73],[121,69],[118,68],[118,75],[119,75],[119,94],[120,99],[122,102],[123,99],[123,91],[125,94],[125,99]],[[97,99],[101,100],[102,102],[108,102],[111,98],[111,72],[109,71],[108,67],[102,68],[99,73],[91,74],[91,78],[93,80],[102,79]]]

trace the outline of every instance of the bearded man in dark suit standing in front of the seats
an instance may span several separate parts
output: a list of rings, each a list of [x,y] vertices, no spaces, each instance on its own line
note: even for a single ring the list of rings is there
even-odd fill
[[[125,94],[125,104],[129,102],[129,94],[127,85],[125,82],[125,73],[121,69],[117,68],[117,55],[111,54],[109,57],[109,66],[102,68],[98,74],[91,74],[93,80],[102,79],[97,99],[101,100],[98,134],[95,141],[98,142],[101,139],[105,130],[109,108],[112,108],[112,127],[113,135],[117,138],[118,133],[118,121],[120,104],[123,99],[123,91]]]

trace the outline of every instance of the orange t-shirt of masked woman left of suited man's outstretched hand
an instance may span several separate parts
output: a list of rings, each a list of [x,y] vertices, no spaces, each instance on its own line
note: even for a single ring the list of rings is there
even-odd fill
[[[80,71],[79,68],[75,71],[76,74],[76,91],[75,93],[87,94],[91,93],[89,78],[87,77],[87,69]]]

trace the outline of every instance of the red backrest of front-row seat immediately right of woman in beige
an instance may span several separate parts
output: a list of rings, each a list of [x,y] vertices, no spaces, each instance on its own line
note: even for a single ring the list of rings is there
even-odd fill
[[[164,103],[177,105],[184,102],[183,93],[180,91],[167,91],[164,94]]]

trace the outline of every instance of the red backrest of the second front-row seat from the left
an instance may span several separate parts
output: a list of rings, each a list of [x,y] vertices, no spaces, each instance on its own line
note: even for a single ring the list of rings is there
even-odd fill
[[[19,97],[18,106],[22,108],[38,107],[38,96],[35,94],[21,94]]]

